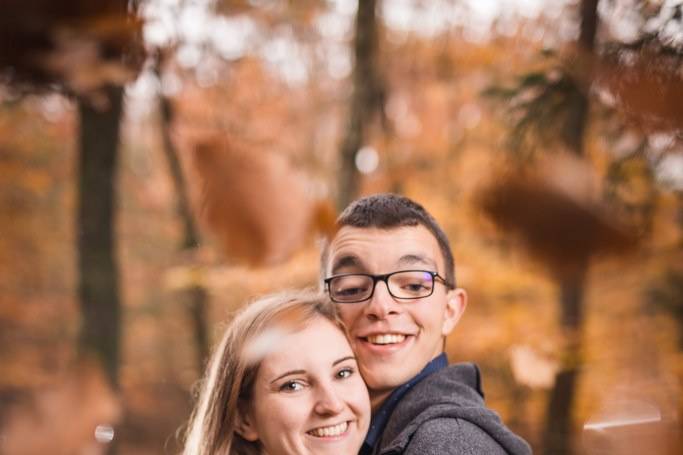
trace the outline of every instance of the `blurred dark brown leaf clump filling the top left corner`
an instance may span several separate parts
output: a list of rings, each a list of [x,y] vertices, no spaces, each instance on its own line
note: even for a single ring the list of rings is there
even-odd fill
[[[143,62],[142,22],[133,13],[127,0],[3,2],[3,82],[76,94],[124,85]]]

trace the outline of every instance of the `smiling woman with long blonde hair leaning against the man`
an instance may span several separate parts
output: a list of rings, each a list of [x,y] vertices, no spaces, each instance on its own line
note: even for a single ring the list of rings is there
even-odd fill
[[[245,307],[213,353],[184,455],[355,454],[368,391],[325,296]]]

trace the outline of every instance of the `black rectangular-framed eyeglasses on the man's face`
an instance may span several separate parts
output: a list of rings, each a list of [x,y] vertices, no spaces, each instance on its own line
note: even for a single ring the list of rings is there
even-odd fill
[[[384,275],[349,273],[325,279],[325,290],[337,303],[357,303],[372,298],[378,281],[384,281],[389,294],[400,300],[421,299],[434,293],[434,283],[439,281],[453,289],[445,278],[429,270],[400,270]]]

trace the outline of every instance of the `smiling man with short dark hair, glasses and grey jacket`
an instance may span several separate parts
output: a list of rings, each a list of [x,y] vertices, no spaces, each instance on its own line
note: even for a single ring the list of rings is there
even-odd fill
[[[394,194],[353,202],[322,254],[370,390],[361,454],[522,455],[531,449],[486,409],[479,370],[448,366],[448,335],[465,311],[448,239],[422,206]]]

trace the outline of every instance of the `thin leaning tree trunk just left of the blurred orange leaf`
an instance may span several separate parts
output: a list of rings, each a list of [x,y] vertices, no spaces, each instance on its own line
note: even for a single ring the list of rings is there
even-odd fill
[[[161,65],[162,56],[157,55],[154,72],[159,80],[161,80]],[[171,139],[173,106],[170,100],[163,94],[159,95],[159,105],[161,110],[163,149],[166,154],[171,179],[173,180],[176,191],[178,216],[180,216],[183,222],[183,239],[181,241],[180,249],[190,250],[199,245],[199,231],[192,215],[192,210],[190,209],[187,184],[185,183],[182,166],[178,159],[178,152]],[[201,376],[204,371],[204,363],[209,356],[209,330],[206,320],[209,295],[200,284],[192,285],[189,289],[186,289],[183,294],[194,335],[197,371]]]

